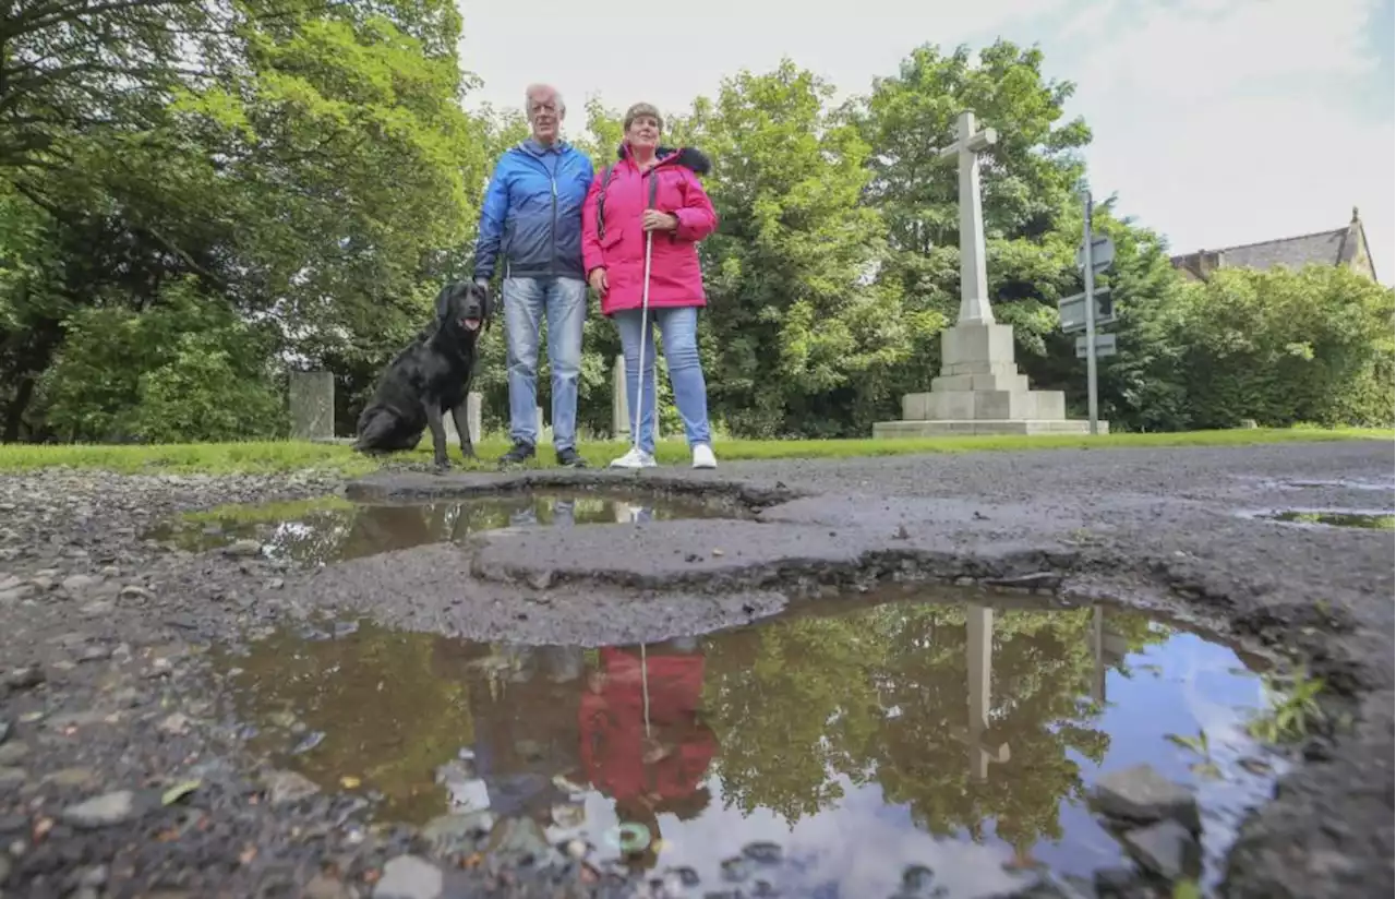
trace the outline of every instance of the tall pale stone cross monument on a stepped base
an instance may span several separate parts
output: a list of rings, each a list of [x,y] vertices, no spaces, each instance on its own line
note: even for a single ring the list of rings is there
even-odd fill
[[[959,320],[941,332],[941,374],[926,394],[902,396],[902,420],[878,422],[872,437],[944,434],[1085,434],[1090,423],[1067,419],[1062,391],[1034,391],[1013,362],[1013,328],[994,320],[988,304],[984,205],[979,155],[993,147],[993,128],[976,130],[962,112],[956,140],[940,152],[959,161]],[[1108,430],[1106,422],[1100,429]]]

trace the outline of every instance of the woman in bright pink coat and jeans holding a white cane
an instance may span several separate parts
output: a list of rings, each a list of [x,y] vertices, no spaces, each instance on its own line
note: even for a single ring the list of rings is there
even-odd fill
[[[649,320],[659,324],[669,362],[674,405],[694,454],[694,468],[713,468],[708,431],[708,387],[698,360],[698,307],[706,304],[698,242],[718,228],[718,214],[698,181],[708,158],[692,148],[659,145],[663,119],[649,103],[625,113],[620,161],[596,173],[582,207],[582,260],[586,281],[602,297],[602,314],[616,321],[625,353],[625,396],[635,409],[639,377],[639,441],[613,468],[655,465],[655,341],[645,335],[641,364],[641,297],[645,289],[645,235],[653,232],[649,264]]]

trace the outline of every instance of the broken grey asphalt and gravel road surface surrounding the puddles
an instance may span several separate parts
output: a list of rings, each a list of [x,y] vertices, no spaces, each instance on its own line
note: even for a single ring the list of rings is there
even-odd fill
[[[487,532],[463,546],[322,570],[218,550],[172,553],[140,536],[177,511],[228,501],[563,484],[667,490],[740,515]],[[406,829],[355,824],[363,808],[353,797],[274,801],[267,785],[278,772],[250,757],[223,711],[209,646],[315,611],[519,642],[659,639],[748,621],[829,585],[886,578],[1034,578],[1067,595],[1159,606],[1307,664],[1356,725],[1304,747],[1305,762],[1242,829],[1226,895],[1351,899],[1396,888],[1396,532],[1247,515],[1396,508],[1389,441],[638,475],[383,472],[348,484],[317,475],[46,470],[0,479],[0,751],[22,747],[0,758],[0,772],[20,772],[0,776],[6,896],[306,895],[331,861],[343,891],[321,895],[367,895],[363,872],[412,845]],[[183,716],[173,723],[172,709]],[[201,786],[188,800],[137,803],[123,828],[63,814],[94,796],[158,790],[191,773]],[[450,895],[484,895],[480,878]],[[505,891],[498,895],[543,895],[521,881],[490,884]]]

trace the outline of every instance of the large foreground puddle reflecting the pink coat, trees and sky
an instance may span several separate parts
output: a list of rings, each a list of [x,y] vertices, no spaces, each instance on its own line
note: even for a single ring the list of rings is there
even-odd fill
[[[1255,659],[1114,607],[895,589],[599,649],[339,623],[222,664],[260,751],[443,854],[584,840],[692,895],[988,895],[1124,864],[1085,800],[1146,762],[1196,792],[1217,879],[1280,765],[1245,729]]]

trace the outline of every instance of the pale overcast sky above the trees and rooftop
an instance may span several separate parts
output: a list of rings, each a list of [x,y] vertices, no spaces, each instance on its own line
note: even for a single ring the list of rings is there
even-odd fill
[[[1037,42],[1078,85],[1093,191],[1175,253],[1340,228],[1357,205],[1396,285],[1396,0],[458,3],[462,64],[484,80],[466,105],[550,81],[574,130],[589,96],[683,112],[782,56],[847,95],[923,42]]]

